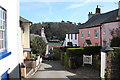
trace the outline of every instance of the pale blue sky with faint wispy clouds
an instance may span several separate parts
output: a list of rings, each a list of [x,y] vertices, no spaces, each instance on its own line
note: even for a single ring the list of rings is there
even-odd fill
[[[118,9],[119,0],[20,0],[20,16],[33,23],[70,21],[85,23],[88,13]]]

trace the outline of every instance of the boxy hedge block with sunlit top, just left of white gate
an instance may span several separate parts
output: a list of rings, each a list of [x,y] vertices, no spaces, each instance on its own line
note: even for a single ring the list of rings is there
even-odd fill
[[[83,48],[67,48],[64,55],[65,67],[77,68],[78,66],[81,66],[82,55],[83,55]]]

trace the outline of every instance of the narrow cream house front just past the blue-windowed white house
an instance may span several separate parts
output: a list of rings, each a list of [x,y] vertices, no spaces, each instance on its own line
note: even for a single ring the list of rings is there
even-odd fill
[[[23,55],[24,59],[30,58],[30,26],[32,25],[32,22],[21,17],[20,16],[20,22],[21,22],[21,43],[23,47]]]

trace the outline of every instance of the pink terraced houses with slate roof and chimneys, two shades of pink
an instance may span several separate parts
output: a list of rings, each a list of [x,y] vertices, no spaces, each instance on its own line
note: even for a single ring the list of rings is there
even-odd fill
[[[88,21],[79,26],[78,43],[84,46],[110,46],[112,36],[110,31],[119,27],[119,9],[100,13],[100,8],[96,8],[96,13],[89,12]]]

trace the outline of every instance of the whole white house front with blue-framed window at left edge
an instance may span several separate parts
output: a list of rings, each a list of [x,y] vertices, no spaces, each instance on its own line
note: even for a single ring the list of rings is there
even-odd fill
[[[20,78],[20,30],[19,0],[0,0],[0,80]]]

